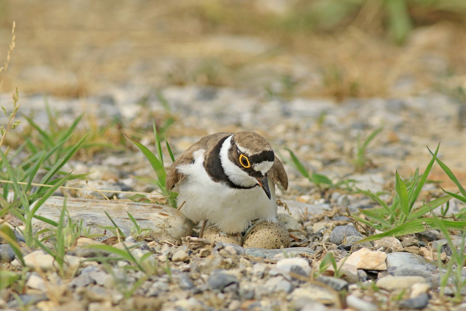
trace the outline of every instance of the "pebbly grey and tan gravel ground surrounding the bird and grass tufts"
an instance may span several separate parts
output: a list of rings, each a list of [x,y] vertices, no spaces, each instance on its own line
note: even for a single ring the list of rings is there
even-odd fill
[[[154,92],[138,87],[111,90],[105,96],[86,100],[49,98],[48,103],[58,111],[61,122],[69,123],[82,111],[91,111],[102,124],[119,119],[122,131],[128,134],[132,134],[130,128],[146,134],[152,118],[163,125],[172,117],[175,122],[166,133],[175,156],[199,138],[217,131],[260,133],[274,146],[288,172],[289,189],[277,189],[277,198],[283,202],[279,220],[296,237],[290,239],[291,247],[243,249],[195,237],[168,241],[170,236],[155,235],[153,241],[136,244],[131,250],[135,258],[150,254],[147,256],[152,269],[144,273],[128,269],[130,264],[123,260],[83,262],[83,258],[95,254],[86,253],[82,245],[97,242],[81,237],[68,249],[67,277],[59,277],[50,255],[41,250],[28,254],[30,268],[26,270],[13,260],[7,244],[0,244],[1,269],[23,271],[22,280],[27,280],[17,297],[2,291],[0,308],[19,310],[24,304],[29,305],[29,310],[89,311],[466,309],[466,303],[453,304],[439,295],[444,279],[446,297],[454,294],[454,279],[445,276],[445,269],[436,264],[437,247],[442,251],[440,260],[446,262],[451,256],[448,245],[441,246],[446,240],[439,231],[350,244],[367,232],[357,231],[340,213],[346,207],[354,213],[358,207],[375,206],[363,194],[351,191],[353,186],[381,193],[389,200],[395,170],[403,178],[412,176],[416,167],[423,171],[430,160],[425,146],[435,149],[440,141],[439,157],[460,181],[464,180],[465,162],[458,156],[466,151],[464,106],[440,94],[334,103],[270,98],[230,89],[172,87],[164,89],[163,96],[168,107]],[[0,97],[5,106],[8,97]],[[34,119],[41,125],[48,122],[43,108],[42,97],[21,98],[20,111],[26,115],[35,111]],[[0,118],[0,123],[4,119]],[[371,141],[363,170],[358,172],[354,164],[357,137],[363,139],[379,127],[383,130]],[[143,136],[140,140],[153,149],[150,134]],[[285,147],[293,150],[312,172],[325,174],[334,182],[353,180],[346,183],[349,189],[315,187],[287,163]],[[169,166],[168,157],[165,161]],[[74,173],[89,173],[89,187],[153,192],[153,198],[160,197],[153,186],[133,178],[154,177],[142,153],[134,149],[99,152],[86,162],[72,160],[66,166],[66,170],[71,169]],[[439,168],[432,170],[430,179],[444,180],[443,186],[452,186]],[[85,182],[69,181],[68,185],[85,187]],[[103,198],[98,192],[68,194]],[[427,184],[420,200],[440,195],[435,184]],[[127,194],[115,193],[115,197],[125,199]],[[94,214],[93,208],[102,209],[99,201],[92,202],[87,206],[90,214]],[[464,207],[457,200],[450,202],[450,211]],[[107,211],[112,215],[111,208]],[[175,215],[173,221],[180,217]],[[198,230],[195,226],[193,236]],[[452,235],[452,240],[459,246],[460,234]],[[131,247],[135,243],[128,237],[114,247],[124,249],[124,245]],[[338,277],[331,265],[321,264],[327,253],[333,253],[337,261],[349,256],[340,260]],[[466,273],[462,276],[465,281]]]

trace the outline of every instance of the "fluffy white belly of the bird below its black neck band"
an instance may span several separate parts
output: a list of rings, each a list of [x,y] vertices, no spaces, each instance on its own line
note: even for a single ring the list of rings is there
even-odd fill
[[[232,189],[214,182],[202,166],[202,154],[194,164],[182,166],[186,175],[178,186],[178,206],[185,201],[181,212],[192,221],[207,220],[225,233],[242,232],[251,221],[276,222],[275,184],[269,180],[272,199],[259,186],[251,189]]]

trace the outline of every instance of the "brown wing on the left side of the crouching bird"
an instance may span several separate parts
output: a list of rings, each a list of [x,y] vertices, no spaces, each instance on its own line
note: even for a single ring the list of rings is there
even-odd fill
[[[183,153],[179,155],[179,157],[173,162],[170,167],[170,170],[167,173],[167,177],[165,178],[165,184],[168,190],[173,189],[182,182],[186,175],[178,173],[178,166],[183,164],[190,164],[194,161],[193,153],[200,150],[205,149],[206,154],[210,151],[212,147],[216,145],[216,143],[226,137],[233,135],[233,133],[227,132],[219,132],[215,134],[208,135],[206,137],[201,138],[197,143],[186,149]]]

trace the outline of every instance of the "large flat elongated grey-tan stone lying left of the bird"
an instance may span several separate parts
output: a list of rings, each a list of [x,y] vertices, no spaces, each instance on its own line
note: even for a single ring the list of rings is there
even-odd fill
[[[52,196],[39,207],[36,214],[58,221],[63,204],[64,200],[62,197]],[[31,205],[31,208],[33,205]],[[102,221],[103,219],[110,221],[104,213],[104,211],[107,211],[117,224],[122,225],[124,228],[123,232],[126,236],[130,235],[131,228],[134,226],[127,212],[137,219],[141,228],[151,229],[148,233],[148,237],[152,240],[159,239],[173,244],[180,244],[182,237],[192,234],[192,221],[186,218],[186,216],[176,208],[168,206],[139,202],[79,198],[67,198],[66,206],[72,218],[82,214],[93,215],[88,218],[89,226],[92,226],[92,218],[94,217],[94,219],[96,219],[96,215],[101,216],[99,219],[102,219]],[[106,226],[108,224],[107,221],[105,221],[104,224],[99,223],[94,226]],[[35,218],[32,219],[32,222],[36,230],[47,226],[42,221]],[[103,231],[103,229],[100,230]]]

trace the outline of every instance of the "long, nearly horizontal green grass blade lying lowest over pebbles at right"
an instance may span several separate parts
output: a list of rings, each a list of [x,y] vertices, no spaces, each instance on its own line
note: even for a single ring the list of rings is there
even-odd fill
[[[459,229],[466,230],[466,221],[446,221],[439,220],[442,224],[448,229]],[[358,241],[358,243],[375,241],[387,236],[398,236],[398,235],[409,235],[412,233],[418,233],[425,230],[437,229],[438,226],[435,224],[435,221],[432,218],[421,218],[415,219],[412,221],[405,222],[402,225],[397,226],[391,230],[388,230],[384,233],[379,233],[377,235],[371,235],[367,238]]]

